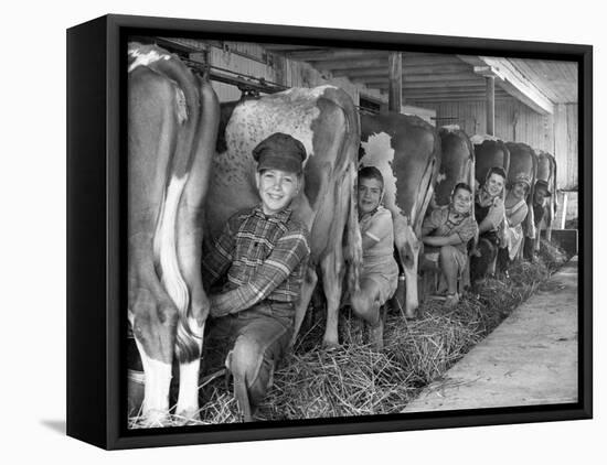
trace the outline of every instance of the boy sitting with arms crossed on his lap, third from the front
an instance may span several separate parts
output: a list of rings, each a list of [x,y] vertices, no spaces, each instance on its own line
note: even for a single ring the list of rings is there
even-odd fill
[[[434,209],[422,225],[424,255],[438,249],[438,264],[441,278],[446,282],[445,305],[454,306],[459,302],[457,281],[468,261],[468,241],[478,234],[478,226],[471,215],[472,190],[466,183],[455,186],[449,205]]]

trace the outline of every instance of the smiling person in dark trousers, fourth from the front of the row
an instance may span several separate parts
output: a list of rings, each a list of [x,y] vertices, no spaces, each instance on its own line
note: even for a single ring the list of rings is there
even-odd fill
[[[470,259],[472,281],[479,281],[484,275],[496,272],[500,229],[505,218],[503,193],[505,171],[493,166],[487,172],[484,183],[477,191],[475,199],[475,217],[478,221],[479,242]]]

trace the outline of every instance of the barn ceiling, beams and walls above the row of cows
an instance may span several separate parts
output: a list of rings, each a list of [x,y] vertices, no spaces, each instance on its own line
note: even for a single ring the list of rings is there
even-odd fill
[[[554,226],[565,229],[577,218],[575,62],[182,37],[153,42],[207,72],[221,101],[331,84],[361,111],[416,115],[436,127],[457,125],[468,136],[546,151],[558,166]]]

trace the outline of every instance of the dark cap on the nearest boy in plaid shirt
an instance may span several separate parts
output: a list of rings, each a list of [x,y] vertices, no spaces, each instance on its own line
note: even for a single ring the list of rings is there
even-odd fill
[[[257,171],[281,170],[299,174],[306,156],[303,144],[283,132],[275,132],[253,149]]]

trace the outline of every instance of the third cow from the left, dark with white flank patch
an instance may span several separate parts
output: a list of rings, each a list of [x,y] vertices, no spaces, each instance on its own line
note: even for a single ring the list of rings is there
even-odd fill
[[[363,166],[384,179],[384,206],[392,213],[394,245],[405,274],[405,316],[418,306],[417,268],[422,221],[440,169],[440,139],[423,119],[401,113],[361,115]]]

